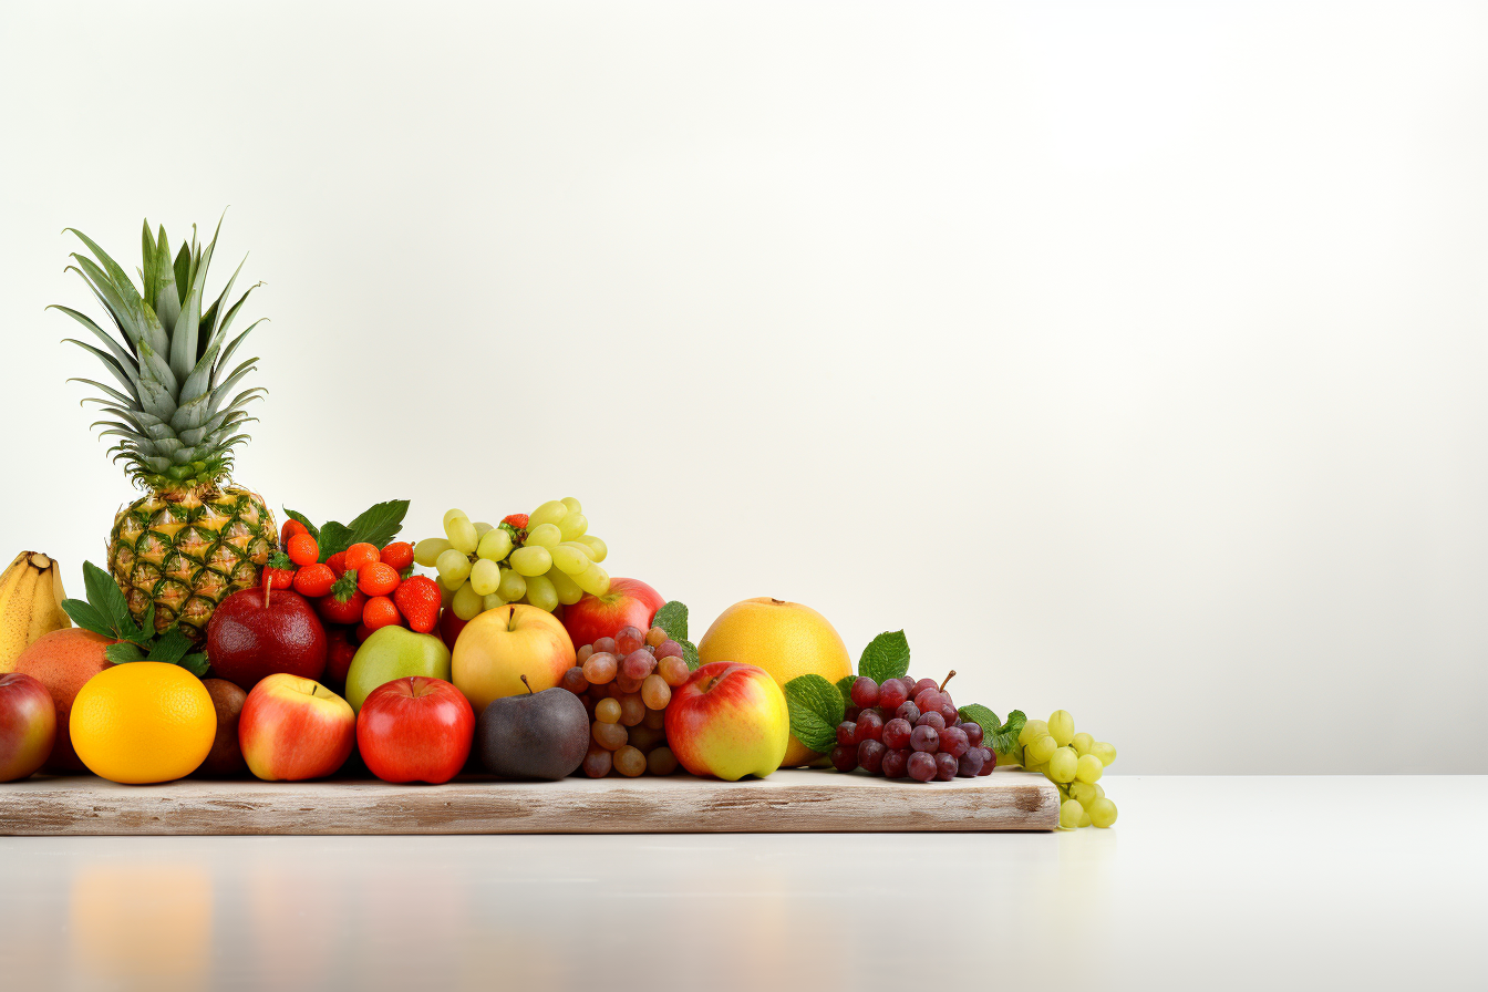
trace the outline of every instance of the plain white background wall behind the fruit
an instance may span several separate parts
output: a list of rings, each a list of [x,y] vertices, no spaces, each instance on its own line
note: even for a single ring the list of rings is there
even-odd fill
[[[238,480],[906,628],[1125,772],[1485,772],[1481,4],[7,3],[0,552],[131,489],[74,225],[251,248]]]

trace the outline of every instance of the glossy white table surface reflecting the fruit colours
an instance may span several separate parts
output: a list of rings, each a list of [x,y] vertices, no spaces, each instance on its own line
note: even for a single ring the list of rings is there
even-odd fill
[[[0,837],[0,989],[1482,989],[1488,778],[1058,834]]]

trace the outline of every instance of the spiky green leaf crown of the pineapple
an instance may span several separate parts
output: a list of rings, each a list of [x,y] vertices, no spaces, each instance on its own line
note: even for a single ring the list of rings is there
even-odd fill
[[[103,428],[101,437],[119,437],[109,454],[115,461],[124,461],[140,485],[165,492],[213,485],[231,471],[232,449],[248,439],[241,428],[257,419],[248,416],[244,408],[266,393],[257,387],[228,400],[232,388],[257,367],[257,357],[235,367],[231,360],[243,339],[263,321],[254,321],[231,341],[228,330],[248,294],[262,283],[231,300],[232,286],[243,271],[240,262],[217,299],[202,309],[207,266],[222,231],[220,219],[205,248],[198,244],[192,226],[190,244],[183,242],[174,260],[165,228],[161,226],[155,236],[146,220],[140,287],[92,238],[76,228],[67,231],[77,235],[97,257],[74,251],[76,265],[67,269],[82,277],[109,311],[118,332],[118,336],[110,335],[86,314],[54,305],[104,347],[76,338],[65,341],[97,355],[124,387],[70,379],[100,390],[103,397],[91,396],[83,402],[98,403],[118,418],[92,425]]]

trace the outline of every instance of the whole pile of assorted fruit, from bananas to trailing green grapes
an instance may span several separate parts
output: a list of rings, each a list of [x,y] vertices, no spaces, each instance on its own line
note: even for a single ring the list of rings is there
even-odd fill
[[[220,226],[220,225],[219,225]],[[610,579],[579,500],[500,524],[443,515],[443,537],[396,540],[408,501],[314,525],[235,485],[246,408],[232,364],[251,289],[207,297],[216,235],[173,253],[144,225],[140,283],[94,241],[76,271],[112,329],[60,306],[113,382],[82,379],[146,492],[115,515],[107,568],[67,599],[57,564],[22,552],[0,576],[0,781],[48,767],[116,782],[356,773],[446,782],[463,772],[558,779],[726,781],[778,767],[917,782],[1045,773],[1059,822],[1109,827],[1116,751],[1067,712],[1001,720],[914,678],[903,632],[863,650],[801,604],[729,607],[693,645],[687,608]],[[432,568],[434,576],[418,574]],[[71,626],[76,623],[76,626]],[[577,648],[574,645],[579,645]],[[951,672],[954,675],[955,672]]]

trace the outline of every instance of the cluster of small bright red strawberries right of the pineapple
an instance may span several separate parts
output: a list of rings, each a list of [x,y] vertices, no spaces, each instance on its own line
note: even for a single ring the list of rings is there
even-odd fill
[[[385,626],[432,634],[439,625],[439,586],[414,573],[414,546],[353,544],[320,558],[320,544],[299,521],[286,521],[281,550],[263,568],[268,589],[293,589],[310,599],[326,625],[326,675],[344,681],[362,641]]]

